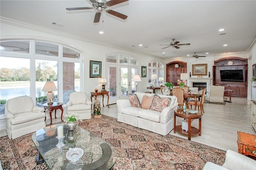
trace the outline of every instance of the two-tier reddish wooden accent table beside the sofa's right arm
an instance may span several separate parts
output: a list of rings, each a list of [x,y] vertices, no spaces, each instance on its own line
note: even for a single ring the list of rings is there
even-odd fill
[[[182,130],[181,125],[177,125],[176,126],[176,116],[177,117],[181,117],[184,118],[188,121],[188,131]],[[199,136],[201,136],[201,118],[202,118],[202,113],[198,111],[198,113],[196,114],[191,114],[188,113],[188,109],[186,112],[183,112],[183,109],[177,109],[174,111],[174,133],[180,132],[182,134],[188,134],[188,140],[190,140],[191,135],[196,135],[199,134]],[[194,121],[194,119],[199,119],[199,126],[198,128],[195,127],[191,127],[191,122]]]

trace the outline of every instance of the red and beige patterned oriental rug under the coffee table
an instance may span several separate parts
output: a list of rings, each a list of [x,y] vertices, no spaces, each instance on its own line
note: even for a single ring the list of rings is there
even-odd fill
[[[226,151],[172,136],[162,136],[132,127],[102,115],[78,121],[78,125],[103,138],[118,152],[113,170],[202,170],[210,161],[224,164]],[[5,170],[48,170],[45,164],[36,164],[38,154],[31,136],[16,139],[0,138],[0,160]]]

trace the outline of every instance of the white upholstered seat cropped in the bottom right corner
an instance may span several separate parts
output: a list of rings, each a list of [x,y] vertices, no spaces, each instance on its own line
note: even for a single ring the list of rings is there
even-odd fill
[[[226,159],[222,166],[212,162],[206,162],[203,170],[255,170],[256,160],[248,158],[240,153],[227,150]]]

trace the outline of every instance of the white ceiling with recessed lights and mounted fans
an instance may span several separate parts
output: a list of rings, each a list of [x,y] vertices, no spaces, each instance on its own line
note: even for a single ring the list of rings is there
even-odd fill
[[[256,36],[255,0],[129,0],[108,8],[127,15],[126,20],[104,11],[99,23],[93,23],[94,9],[66,10],[90,7],[89,0],[0,0],[0,6],[2,17],[162,58],[246,51]],[[225,35],[219,35],[220,28]],[[160,44],[172,38],[191,45],[162,49]]]

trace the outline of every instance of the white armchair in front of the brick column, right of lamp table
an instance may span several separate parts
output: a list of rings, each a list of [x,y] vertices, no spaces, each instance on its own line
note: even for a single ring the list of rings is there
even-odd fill
[[[91,105],[92,102],[88,100],[86,93],[73,92],[70,93],[66,107],[68,108],[68,115],[77,113],[80,116],[80,119],[91,119]]]

